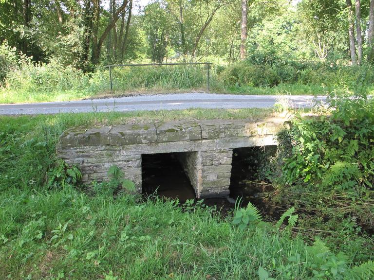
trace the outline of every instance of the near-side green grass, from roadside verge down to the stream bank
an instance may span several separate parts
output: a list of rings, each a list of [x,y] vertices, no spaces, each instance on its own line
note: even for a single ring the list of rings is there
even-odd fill
[[[271,115],[189,109],[0,117],[0,279],[288,280],[324,273],[330,259],[318,261],[311,239],[271,225],[239,230],[212,208],[45,187],[56,141],[72,125]]]

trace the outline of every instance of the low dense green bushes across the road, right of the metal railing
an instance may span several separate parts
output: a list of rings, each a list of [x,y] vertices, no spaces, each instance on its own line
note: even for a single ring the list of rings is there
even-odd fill
[[[374,73],[368,66],[329,66],[312,62],[287,64],[253,64],[242,61],[233,64],[219,73],[218,78],[225,86],[274,87],[281,83],[300,83],[302,85],[348,86],[357,87],[357,82],[374,82]]]

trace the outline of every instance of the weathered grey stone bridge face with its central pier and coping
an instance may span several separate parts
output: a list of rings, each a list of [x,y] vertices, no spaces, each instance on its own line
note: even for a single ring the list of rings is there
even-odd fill
[[[175,153],[197,198],[229,194],[234,148],[276,145],[284,120],[174,121],[73,127],[57,145],[57,156],[80,168],[84,183],[107,179],[117,165],[142,192],[142,155]]]

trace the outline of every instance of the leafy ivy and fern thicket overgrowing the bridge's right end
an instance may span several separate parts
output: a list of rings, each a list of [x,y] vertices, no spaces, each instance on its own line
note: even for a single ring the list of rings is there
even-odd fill
[[[331,243],[364,255],[374,222],[373,99],[336,91],[328,99],[328,115],[297,116],[279,135],[282,175],[273,200],[299,209],[299,227],[325,230]]]

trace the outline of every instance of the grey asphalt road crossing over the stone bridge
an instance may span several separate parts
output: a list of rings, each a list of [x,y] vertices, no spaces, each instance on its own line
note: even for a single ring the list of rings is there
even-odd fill
[[[36,115],[78,112],[111,112],[138,110],[172,110],[187,108],[267,108],[279,99],[288,100],[297,108],[314,104],[310,95],[233,95],[214,93],[178,93],[162,95],[140,95],[107,99],[90,99],[70,102],[46,102],[33,104],[0,105],[0,115]],[[324,97],[318,96],[324,102]]]

